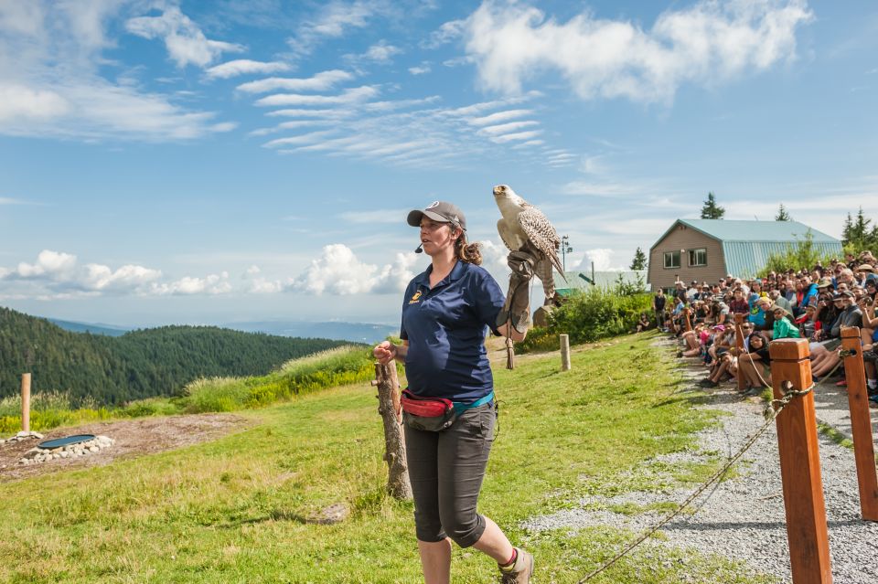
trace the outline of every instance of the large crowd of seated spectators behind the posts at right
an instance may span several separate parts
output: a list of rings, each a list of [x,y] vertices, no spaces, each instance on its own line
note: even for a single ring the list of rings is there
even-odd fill
[[[771,386],[768,343],[790,337],[808,339],[815,382],[841,372],[836,384],[846,385],[839,366],[841,327],[860,327],[869,399],[878,406],[876,292],[878,260],[866,251],[811,271],[772,271],[752,279],[730,274],[718,282],[689,285],[678,280],[671,293],[656,292],[653,311],[659,327],[680,339],[678,356],[703,361],[708,374],[701,385],[715,387],[741,377],[744,391],[755,392]],[[735,314],[744,319],[743,349],[737,347]]]

